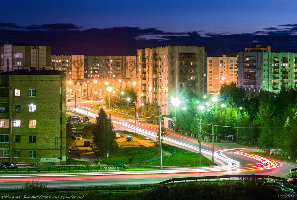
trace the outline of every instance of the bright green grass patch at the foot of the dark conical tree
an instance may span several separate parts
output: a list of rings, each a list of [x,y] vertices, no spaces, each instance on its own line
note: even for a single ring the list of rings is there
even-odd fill
[[[118,148],[115,153],[110,153],[109,158],[99,154],[100,163],[105,163],[107,165],[117,165],[117,164],[128,164],[129,158],[133,158],[133,162],[143,161],[153,158],[158,152],[152,150],[148,147],[122,147]]]

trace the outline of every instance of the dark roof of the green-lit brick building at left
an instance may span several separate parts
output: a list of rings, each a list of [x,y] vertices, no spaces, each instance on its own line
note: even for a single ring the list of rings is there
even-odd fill
[[[58,70],[37,70],[36,68],[17,69],[10,72],[2,72],[0,75],[64,75],[65,73]],[[66,75],[66,74],[65,74]]]

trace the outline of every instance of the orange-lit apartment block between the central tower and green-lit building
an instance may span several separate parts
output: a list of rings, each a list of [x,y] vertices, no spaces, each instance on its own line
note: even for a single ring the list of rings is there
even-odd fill
[[[218,93],[224,82],[237,83],[237,68],[238,55],[207,57],[207,93]]]

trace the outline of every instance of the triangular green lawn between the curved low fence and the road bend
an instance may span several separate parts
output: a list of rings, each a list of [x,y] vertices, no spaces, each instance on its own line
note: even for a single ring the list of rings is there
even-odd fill
[[[187,165],[189,165],[189,166],[193,167],[194,162],[195,162],[195,167],[199,166],[199,153],[184,150],[184,149],[174,147],[174,146],[171,146],[168,144],[165,144],[165,145],[163,144],[162,146],[167,146],[167,147],[170,147],[177,151],[177,153],[174,156],[162,159],[163,166],[181,166],[181,165],[187,166]],[[167,149],[164,148],[164,150],[167,150]],[[160,165],[160,160],[150,162],[149,164]],[[202,166],[210,166],[210,165],[216,166],[217,165],[215,163],[212,163],[211,160],[209,160],[208,158],[206,158],[203,155],[201,155],[201,164],[202,164]],[[148,163],[142,163],[139,165],[148,165]]]

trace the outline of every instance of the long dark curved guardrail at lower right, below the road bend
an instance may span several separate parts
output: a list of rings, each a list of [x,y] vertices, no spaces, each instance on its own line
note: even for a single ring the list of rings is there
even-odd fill
[[[268,176],[268,175],[221,175],[221,176],[203,176],[203,177],[182,177],[182,178],[172,178],[172,179],[168,179],[162,182],[159,182],[159,184],[166,184],[169,182],[174,182],[174,181],[187,181],[187,180],[206,180],[209,181],[209,179],[218,179],[220,180],[220,178],[229,178],[229,180],[231,180],[231,178],[269,178],[270,179],[277,179],[277,180],[286,180],[285,178],[282,177],[276,177],[276,176]]]

